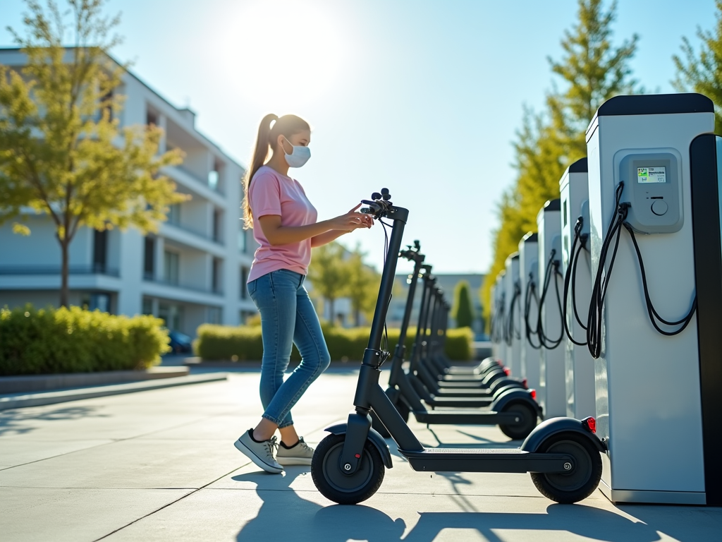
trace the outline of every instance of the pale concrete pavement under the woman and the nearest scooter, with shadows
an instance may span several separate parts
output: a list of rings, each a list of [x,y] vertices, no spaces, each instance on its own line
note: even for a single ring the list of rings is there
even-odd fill
[[[306,440],[344,418],[355,369],[330,369],[294,409]],[[227,381],[0,413],[3,541],[722,541],[722,509],[561,505],[526,474],[394,468],[362,505],[318,494],[309,468],[261,473],[232,445],[258,420],[258,372]],[[494,427],[413,423],[428,446],[504,446]],[[516,443],[518,444],[518,443]],[[393,449],[393,447],[392,447]]]

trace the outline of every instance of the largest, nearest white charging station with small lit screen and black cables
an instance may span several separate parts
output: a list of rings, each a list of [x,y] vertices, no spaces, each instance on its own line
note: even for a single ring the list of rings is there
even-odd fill
[[[703,95],[632,95],[606,101],[587,129],[588,340],[613,502],[722,504],[714,126]]]

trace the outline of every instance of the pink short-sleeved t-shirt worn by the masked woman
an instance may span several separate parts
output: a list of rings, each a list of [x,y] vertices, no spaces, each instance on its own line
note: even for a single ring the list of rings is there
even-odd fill
[[[281,225],[284,226],[315,224],[318,213],[308,201],[301,184],[263,165],[251,179],[248,202],[253,214],[253,238],[261,245],[254,254],[248,282],[279,269],[305,275],[311,261],[311,240],[271,246],[258,223],[262,216],[280,215]]]

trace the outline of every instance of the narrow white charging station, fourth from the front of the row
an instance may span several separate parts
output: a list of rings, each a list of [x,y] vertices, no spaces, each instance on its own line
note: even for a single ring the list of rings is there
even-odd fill
[[[533,288],[536,288],[539,274],[538,235],[527,233],[519,241],[519,286],[521,288],[521,345],[519,348],[519,371],[526,378],[529,389],[539,390],[539,348],[533,343],[536,330],[536,309],[538,306],[531,299]],[[534,347],[537,344],[537,347]]]

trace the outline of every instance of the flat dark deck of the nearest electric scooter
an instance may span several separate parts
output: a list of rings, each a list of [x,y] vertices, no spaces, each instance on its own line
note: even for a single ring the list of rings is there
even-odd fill
[[[518,448],[399,449],[414,470],[455,473],[567,473],[573,459],[566,454],[526,452]]]

